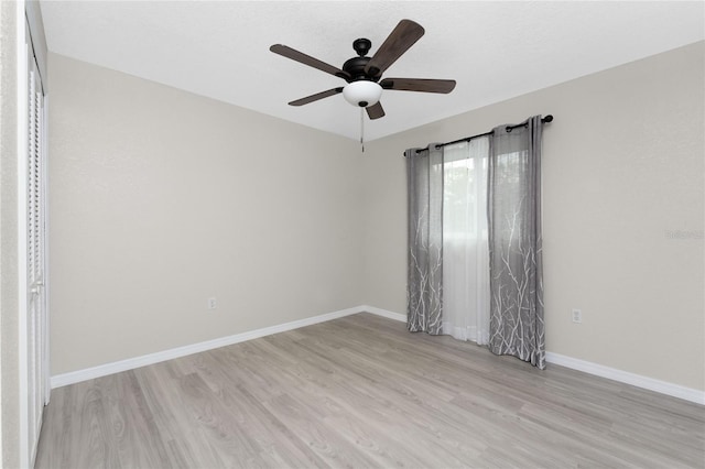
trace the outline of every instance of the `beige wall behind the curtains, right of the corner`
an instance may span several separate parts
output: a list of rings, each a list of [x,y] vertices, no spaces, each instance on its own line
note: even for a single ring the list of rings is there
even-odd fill
[[[405,310],[402,151],[553,113],[543,138],[547,350],[705,390],[704,56],[696,43],[370,142],[367,304]]]

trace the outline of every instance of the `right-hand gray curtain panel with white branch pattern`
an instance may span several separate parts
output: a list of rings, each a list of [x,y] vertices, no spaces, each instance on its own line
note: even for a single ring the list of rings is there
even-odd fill
[[[494,130],[488,174],[489,349],[545,368],[541,116]]]

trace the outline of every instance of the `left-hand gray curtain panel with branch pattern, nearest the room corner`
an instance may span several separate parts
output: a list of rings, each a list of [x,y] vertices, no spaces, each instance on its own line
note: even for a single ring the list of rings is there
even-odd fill
[[[443,150],[406,150],[409,279],[406,328],[442,332]]]

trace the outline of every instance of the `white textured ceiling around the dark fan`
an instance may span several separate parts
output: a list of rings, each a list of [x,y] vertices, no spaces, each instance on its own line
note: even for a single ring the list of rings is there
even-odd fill
[[[449,95],[384,91],[373,140],[705,39],[705,2],[41,1],[50,51],[359,139],[345,81],[269,52],[281,43],[341,67],[401,19],[426,34],[386,77],[452,78]],[[550,112],[538,109],[536,112]]]

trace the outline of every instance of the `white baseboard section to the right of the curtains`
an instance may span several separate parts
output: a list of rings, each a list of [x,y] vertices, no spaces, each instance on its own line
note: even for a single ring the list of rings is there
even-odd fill
[[[632,386],[642,388],[649,391],[705,405],[704,391],[655,380],[653,378],[642,377],[641,374],[630,373],[628,371],[605,367],[603,364],[585,360],[578,360],[577,358],[566,357],[560,353],[546,352],[546,361],[549,363],[560,364],[562,367],[583,371],[596,377],[607,378],[609,380],[619,381],[620,383],[631,384]]]

